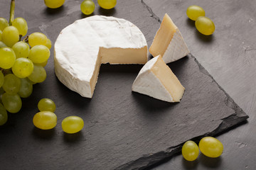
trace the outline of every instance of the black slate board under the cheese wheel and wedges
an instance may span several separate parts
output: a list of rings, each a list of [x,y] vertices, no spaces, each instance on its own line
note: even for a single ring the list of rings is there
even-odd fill
[[[45,31],[55,41],[64,26],[80,14],[78,1],[67,1],[57,12],[35,6],[38,20],[25,11],[16,16],[31,18],[30,33]],[[1,2],[3,4],[3,2]],[[22,6],[22,4],[20,4]],[[18,6],[18,3],[17,3]],[[71,9],[67,9],[71,8]],[[18,8],[21,10],[21,7]],[[18,10],[17,9],[17,10]],[[73,11],[72,13],[70,11]],[[18,12],[16,12],[18,13]],[[61,14],[61,15],[60,15]],[[139,1],[122,1],[105,13],[135,23],[149,45],[159,23]],[[28,23],[29,26],[29,23]],[[51,50],[53,54],[53,50]],[[181,103],[166,103],[131,91],[142,65],[103,64],[92,99],[82,98],[58,81],[53,72],[53,55],[46,67],[48,79],[34,86],[33,95],[23,100],[23,108],[9,116],[0,128],[3,169],[143,169],[179,152],[186,140],[216,135],[246,120],[247,115],[215,83],[192,55],[169,64],[185,86]],[[41,98],[55,101],[58,125],[38,130],[32,118]],[[74,135],[61,130],[69,115],[85,120],[85,128]]]

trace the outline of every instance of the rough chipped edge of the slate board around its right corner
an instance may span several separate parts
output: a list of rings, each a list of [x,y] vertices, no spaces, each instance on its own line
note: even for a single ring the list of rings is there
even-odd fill
[[[200,72],[203,74],[206,74],[208,77],[213,79],[213,77],[208,73],[208,71],[196,60],[196,57],[194,57],[191,54],[188,54],[188,57],[192,57],[193,60],[198,64]],[[218,85],[218,88],[224,92],[224,94],[227,96],[225,104],[232,108],[235,113],[233,115],[228,116],[227,118],[223,118],[222,123],[213,130],[212,132],[207,132],[206,134],[193,137],[191,140],[195,142],[199,142],[202,137],[206,136],[216,136],[220,135],[223,132],[226,132],[228,130],[231,130],[235,128],[238,125],[241,125],[242,123],[246,123],[247,118],[249,118],[248,115],[244,111],[242,111],[242,108],[240,108],[235,101],[233,101],[233,98],[231,98],[224,89],[213,79],[213,82]],[[132,162],[128,162],[126,164],[123,164],[122,166],[117,167],[116,170],[142,170],[142,169],[150,169],[154,166],[159,165],[161,162],[165,162],[166,159],[171,159],[175,154],[181,153],[183,143],[176,145],[174,147],[169,147],[165,151],[157,152],[150,155],[145,155],[143,157],[140,157],[139,159],[136,159]]]

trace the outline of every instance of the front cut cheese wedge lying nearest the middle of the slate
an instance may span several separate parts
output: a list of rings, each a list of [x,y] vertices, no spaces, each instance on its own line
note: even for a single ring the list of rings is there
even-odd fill
[[[162,60],[161,55],[149,60],[132,84],[132,91],[162,101],[181,101],[185,88]]]

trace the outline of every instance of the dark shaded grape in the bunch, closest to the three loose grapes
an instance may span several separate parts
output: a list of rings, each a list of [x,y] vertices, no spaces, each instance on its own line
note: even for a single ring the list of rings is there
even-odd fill
[[[21,98],[27,98],[28,96],[31,96],[32,91],[32,82],[27,78],[21,79],[21,89],[18,91],[18,95],[21,96]]]

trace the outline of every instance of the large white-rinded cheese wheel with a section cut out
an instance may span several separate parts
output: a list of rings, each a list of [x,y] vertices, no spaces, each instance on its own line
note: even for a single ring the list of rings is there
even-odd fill
[[[91,16],[64,28],[55,42],[55,74],[69,89],[92,98],[100,64],[145,64],[139,28],[121,18]]]

